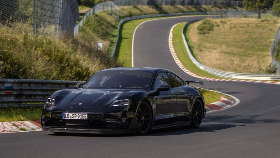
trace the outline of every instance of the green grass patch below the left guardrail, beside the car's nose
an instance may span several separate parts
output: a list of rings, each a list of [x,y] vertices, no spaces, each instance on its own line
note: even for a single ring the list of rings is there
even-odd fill
[[[42,107],[0,107],[0,122],[40,120]]]

